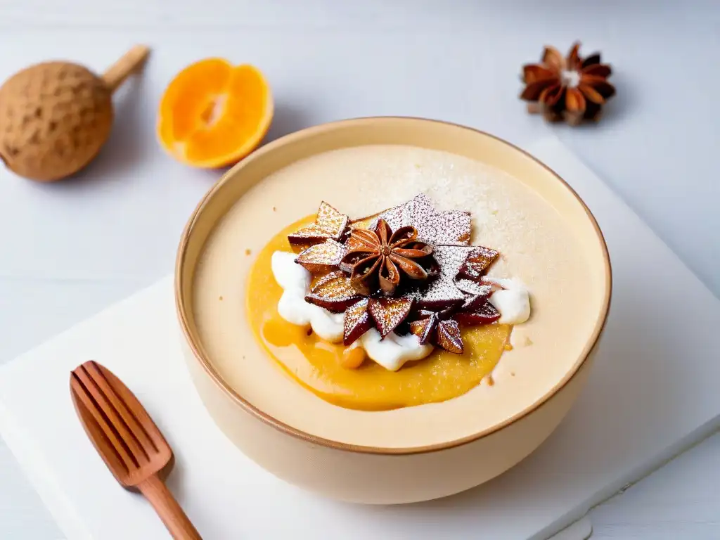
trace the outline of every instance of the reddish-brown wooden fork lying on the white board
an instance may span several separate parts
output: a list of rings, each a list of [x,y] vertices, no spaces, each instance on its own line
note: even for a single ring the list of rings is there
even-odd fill
[[[202,540],[161,477],[173,451],[143,405],[106,367],[88,361],[70,374],[85,432],[120,485],[139,490],[176,540]]]

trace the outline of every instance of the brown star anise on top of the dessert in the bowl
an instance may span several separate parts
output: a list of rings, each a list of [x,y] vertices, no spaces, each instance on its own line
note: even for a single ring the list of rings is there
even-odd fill
[[[383,219],[375,230],[354,229],[348,238],[349,248],[340,268],[350,274],[350,282],[365,296],[379,289],[386,296],[395,292],[400,277],[421,281],[428,278],[428,270],[419,261],[433,253],[428,243],[418,240],[414,227],[401,227],[392,232]]]

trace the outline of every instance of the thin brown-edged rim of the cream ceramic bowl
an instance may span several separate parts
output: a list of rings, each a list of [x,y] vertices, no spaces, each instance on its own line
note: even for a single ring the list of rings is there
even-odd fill
[[[186,309],[186,300],[184,297],[184,294],[182,292],[181,284],[184,281],[184,272],[183,272],[183,266],[184,266],[184,258],[186,256],[186,250],[189,243],[189,238],[192,235],[194,225],[197,222],[197,219],[199,215],[202,213],[203,208],[205,207],[205,204],[215,195],[215,193],[220,189],[220,186],[225,184],[232,176],[236,174],[236,172],[243,168],[243,166],[246,165],[246,163],[254,161],[255,159],[259,158],[260,156],[263,156],[266,153],[274,152],[278,150],[279,148],[282,148],[285,145],[288,145],[295,140],[310,137],[312,135],[315,135],[320,132],[325,132],[328,130],[337,130],[342,129],[343,127],[348,127],[352,125],[362,125],[369,122],[384,122],[392,120],[393,122],[401,121],[401,122],[408,122],[410,124],[426,124],[428,122],[434,123],[434,124],[441,124],[446,125],[449,127],[453,127],[455,129],[460,130],[469,130],[477,135],[484,135],[485,137],[492,138],[497,140],[500,143],[503,143],[505,145],[508,145],[513,150],[516,150],[517,152],[523,154],[523,156],[526,156],[527,158],[530,158],[536,165],[541,166],[546,171],[548,171],[554,178],[564,186],[565,189],[567,189],[568,192],[572,195],[572,197],[575,197],[577,202],[580,203],[583,210],[585,210],[585,214],[587,215],[588,219],[590,220],[591,225],[593,225],[593,229],[595,230],[595,234],[600,241],[600,247],[603,252],[603,263],[604,263],[604,271],[605,271],[605,294],[603,297],[603,305],[601,307],[600,313],[598,314],[597,320],[595,320],[595,326],[593,327],[592,333],[590,333],[590,337],[588,338],[588,341],[585,342],[585,356],[582,357],[582,359],[578,359],[576,361],[575,365],[570,369],[562,379],[559,380],[554,386],[546,392],[544,395],[542,395],[538,400],[533,402],[531,405],[528,405],[523,410],[519,411],[518,413],[510,416],[509,418],[505,418],[503,422],[497,423],[493,426],[489,426],[485,428],[482,431],[479,431],[477,433],[472,433],[471,435],[464,436],[462,438],[457,438],[452,441],[444,441],[441,443],[436,444],[428,444],[424,446],[408,446],[408,447],[382,447],[382,446],[366,446],[366,445],[356,445],[356,444],[349,444],[349,443],[343,443],[341,441],[333,441],[329,438],[323,438],[320,436],[312,435],[312,433],[307,433],[306,431],[302,431],[298,428],[294,428],[293,426],[290,426],[287,423],[282,422],[281,420],[278,420],[274,418],[273,416],[269,415],[268,413],[265,413],[260,408],[257,408],[255,405],[253,405],[251,402],[246,400],[244,397],[242,397],[238,392],[235,392],[230,385],[225,382],[225,379],[222,378],[220,373],[217,372],[217,370],[212,366],[210,363],[210,360],[205,358],[202,354],[201,349],[199,348],[198,344],[195,343],[193,340],[190,332],[189,332],[189,323],[188,323],[188,313]],[[240,408],[244,410],[244,412],[249,413],[253,417],[255,417],[257,420],[260,420],[261,422],[265,423],[266,425],[270,426],[271,428],[274,428],[286,435],[292,436],[294,438],[300,439],[301,441],[305,441],[310,444],[315,444],[318,446],[325,446],[328,449],[336,449],[341,451],[348,451],[348,452],[354,452],[359,454],[381,454],[381,455],[407,455],[407,454],[427,454],[430,452],[435,451],[441,451],[446,449],[452,449],[456,448],[457,446],[462,446],[464,444],[469,444],[474,441],[477,441],[480,438],[484,438],[486,436],[490,436],[492,433],[495,433],[496,431],[500,431],[503,428],[506,428],[510,426],[513,423],[518,422],[518,420],[521,420],[522,418],[525,418],[527,415],[530,415],[535,410],[539,409],[542,405],[544,405],[548,400],[550,400],[554,395],[556,395],[560,390],[562,390],[574,377],[575,375],[580,372],[580,369],[582,366],[585,365],[585,361],[587,361],[588,357],[593,354],[593,351],[595,350],[596,346],[598,345],[598,341],[600,339],[600,335],[603,332],[603,329],[605,328],[607,319],[608,319],[608,313],[610,312],[610,305],[611,305],[611,293],[613,288],[613,280],[612,280],[612,269],[611,269],[611,261],[610,261],[610,255],[608,253],[608,246],[605,241],[605,237],[603,236],[602,230],[600,230],[600,226],[598,225],[597,220],[595,220],[595,216],[593,215],[593,212],[590,211],[588,208],[588,205],[585,204],[585,202],[582,200],[579,194],[575,192],[575,189],[572,189],[570,184],[567,183],[564,179],[562,179],[559,174],[557,174],[552,168],[547,166],[545,163],[542,163],[539,161],[539,159],[532,156],[530,153],[526,152],[526,150],[523,150],[522,148],[519,148],[518,146],[514,145],[513,143],[509,143],[507,140],[504,140],[500,137],[497,137],[495,135],[492,135],[490,133],[484,132],[482,130],[477,130],[474,127],[469,127],[465,125],[456,124],[454,122],[446,122],[444,120],[433,120],[429,118],[422,118],[422,117],[407,117],[407,116],[374,116],[374,117],[356,117],[356,118],[350,118],[347,120],[336,120],[333,122],[325,122],[323,124],[315,125],[312,127],[306,127],[302,130],[298,130],[295,132],[291,132],[287,135],[282,136],[281,138],[278,138],[276,140],[271,141],[270,143],[267,143],[266,145],[262,146],[261,148],[258,148],[258,150],[255,150],[253,153],[251,153],[248,157],[244,158],[242,161],[238,162],[230,168],[228,171],[225,171],[224,174],[220,177],[220,179],[213,184],[213,186],[204,194],[202,199],[198,202],[197,206],[195,207],[194,211],[192,212],[192,215],[190,215],[188,222],[185,225],[185,228],[183,230],[181,240],[179,243],[177,256],[176,256],[176,262],[175,262],[175,276],[174,276],[174,294],[175,294],[175,307],[176,312],[179,318],[179,323],[181,326],[181,330],[183,333],[183,337],[189,346],[189,348],[192,351],[192,354],[194,356],[195,361],[197,361],[200,366],[202,366],[202,369],[204,369],[204,372],[206,372],[207,375],[210,376],[210,379],[212,379],[212,382],[215,383],[217,387],[222,390],[222,392],[225,393],[226,396],[230,397],[230,400],[235,402],[235,405],[238,405]]]

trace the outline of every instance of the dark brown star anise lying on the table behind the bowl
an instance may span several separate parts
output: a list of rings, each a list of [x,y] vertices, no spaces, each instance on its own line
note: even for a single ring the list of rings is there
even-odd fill
[[[530,112],[541,112],[550,122],[597,120],[603,104],[615,95],[615,86],[607,80],[611,73],[610,66],[600,63],[600,53],[581,58],[580,42],[572,45],[567,58],[546,47],[540,63],[523,66],[526,86],[520,97],[531,102]]]

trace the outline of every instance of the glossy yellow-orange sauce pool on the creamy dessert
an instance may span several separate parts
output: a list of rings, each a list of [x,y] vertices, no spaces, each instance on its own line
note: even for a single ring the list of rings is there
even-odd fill
[[[274,251],[292,251],[287,235],[315,220],[309,216],[280,231],[258,253],[248,282],[248,320],[268,354],[297,382],[323,400],[349,409],[390,410],[449,400],[492,372],[510,338],[509,325],[464,328],[464,354],[436,348],[425,359],[390,372],[366,359],[358,369],[342,366],[346,347],[328,343],[308,328],[280,317],[282,289],[272,276]]]

